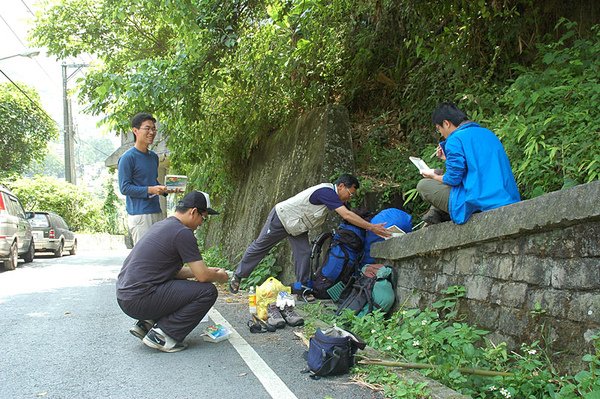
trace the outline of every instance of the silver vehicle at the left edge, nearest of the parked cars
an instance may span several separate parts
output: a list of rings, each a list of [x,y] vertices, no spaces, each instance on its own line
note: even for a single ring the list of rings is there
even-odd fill
[[[31,225],[17,197],[0,185],[0,262],[4,270],[14,270],[19,256],[25,263],[35,256]]]

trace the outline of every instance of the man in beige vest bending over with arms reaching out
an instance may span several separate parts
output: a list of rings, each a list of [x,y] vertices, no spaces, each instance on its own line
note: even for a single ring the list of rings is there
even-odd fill
[[[273,207],[258,238],[250,244],[240,261],[229,290],[236,293],[242,278],[248,277],[269,250],[278,242],[287,238],[292,247],[296,283],[293,288],[310,286],[309,229],[323,224],[328,211],[335,211],[344,220],[375,234],[387,237],[390,233],[385,223],[372,224],[350,211],[344,204],[354,196],[359,188],[358,179],[352,175],[341,175],[333,184],[323,183],[307,188],[297,195],[282,201]]]

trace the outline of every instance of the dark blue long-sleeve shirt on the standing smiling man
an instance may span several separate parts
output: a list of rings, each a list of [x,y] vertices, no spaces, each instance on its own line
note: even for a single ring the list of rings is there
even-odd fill
[[[148,187],[158,183],[158,155],[135,147],[127,150],[118,163],[119,189],[125,195],[125,208],[130,215],[160,213],[157,195],[149,196]]]

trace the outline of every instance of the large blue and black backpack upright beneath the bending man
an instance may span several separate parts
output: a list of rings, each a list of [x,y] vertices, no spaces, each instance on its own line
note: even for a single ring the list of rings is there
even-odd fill
[[[340,281],[346,284],[357,273],[364,240],[363,229],[342,223],[333,233],[323,233],[313,241],[311,268],[315,273],[312,291],[316,298],[329,299],[329,288]],[[324,253],[323,248],[327,248]]]

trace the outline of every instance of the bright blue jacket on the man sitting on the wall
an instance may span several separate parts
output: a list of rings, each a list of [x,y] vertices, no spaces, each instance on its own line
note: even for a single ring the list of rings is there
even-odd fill
[[[459,126],[442,143],[446,155],[443,182],[451,186],[448,210],[452,221],[465,223],[474,212],[521,200],[502,143],[475,122]]]

